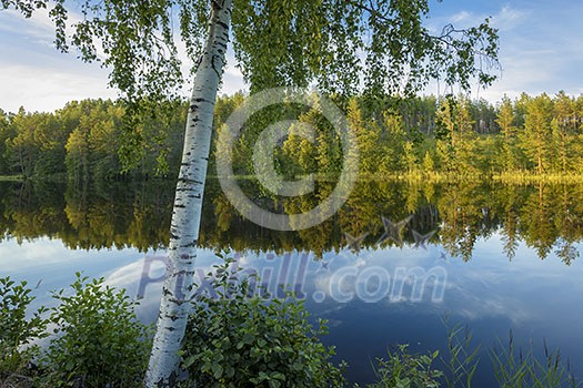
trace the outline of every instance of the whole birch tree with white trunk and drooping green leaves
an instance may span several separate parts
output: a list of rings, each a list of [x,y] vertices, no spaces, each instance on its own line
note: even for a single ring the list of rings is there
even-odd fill
[[[173,386],[194,263],[212,131],[212,112],[233,40],[237,64],[251,92],[306,88],[335,95],[413,95],[439,78],[468,89],[472,79],[494,81],[497,34],[489,20],[441,32],[428,25],[429,0],[1,0],[1,9],[31,17],[49,10],[56,45],[109,68],[128,114],[161,114],[162,100],[180,95],[184,83],[178,41],[194,74],[170,228],[169,265],[157,335],[145,378],[148,387]],[[232,29],[232,31],[231,31]],[[130,124],[131,120],[128,121]],[[148,139],[122,136],[120,156]]]

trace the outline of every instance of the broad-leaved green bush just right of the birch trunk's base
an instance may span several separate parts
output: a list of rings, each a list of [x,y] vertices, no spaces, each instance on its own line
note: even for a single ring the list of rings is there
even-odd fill
[[[220,256],[222,257],[222,256]],[[249,278],[230,269],[231,259],[209,278],[218,297],[198,294],[183,346],[183,368],[197,387],[340,387],[333,348],[318,336],[303,303],[287,294],[268,300],[253,295]]]

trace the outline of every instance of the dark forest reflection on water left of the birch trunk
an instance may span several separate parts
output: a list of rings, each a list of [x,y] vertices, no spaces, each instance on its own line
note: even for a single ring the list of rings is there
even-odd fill
[[[164,246],[173,200],[171,184],[0,183],[0,231],[19,242],[47,236],[70,249]]]

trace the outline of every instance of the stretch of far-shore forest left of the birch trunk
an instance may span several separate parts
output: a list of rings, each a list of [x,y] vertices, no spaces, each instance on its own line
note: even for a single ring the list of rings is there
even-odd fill
[[[139,118],[138,163],[123,162],[125,104],[111,100],[68,103],[52,113],[0,110],[0,175],[31,178],[67,177],[74,182],[121,176],[163,175],[180,163],[183,110],[169,118]],[[130,141],[134,141],[135,137]],[[128,140],[127,140],[128,141]]]

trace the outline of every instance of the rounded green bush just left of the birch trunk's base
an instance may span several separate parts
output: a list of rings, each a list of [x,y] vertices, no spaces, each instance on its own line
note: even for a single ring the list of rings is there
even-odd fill
[[[51,386],[140,387],[151,347],[151,329],[134,314],[124,290],[88,280],[77,274],[72,296],[53,293],[59,300],[51,314],[57,335],[43,369]]]

